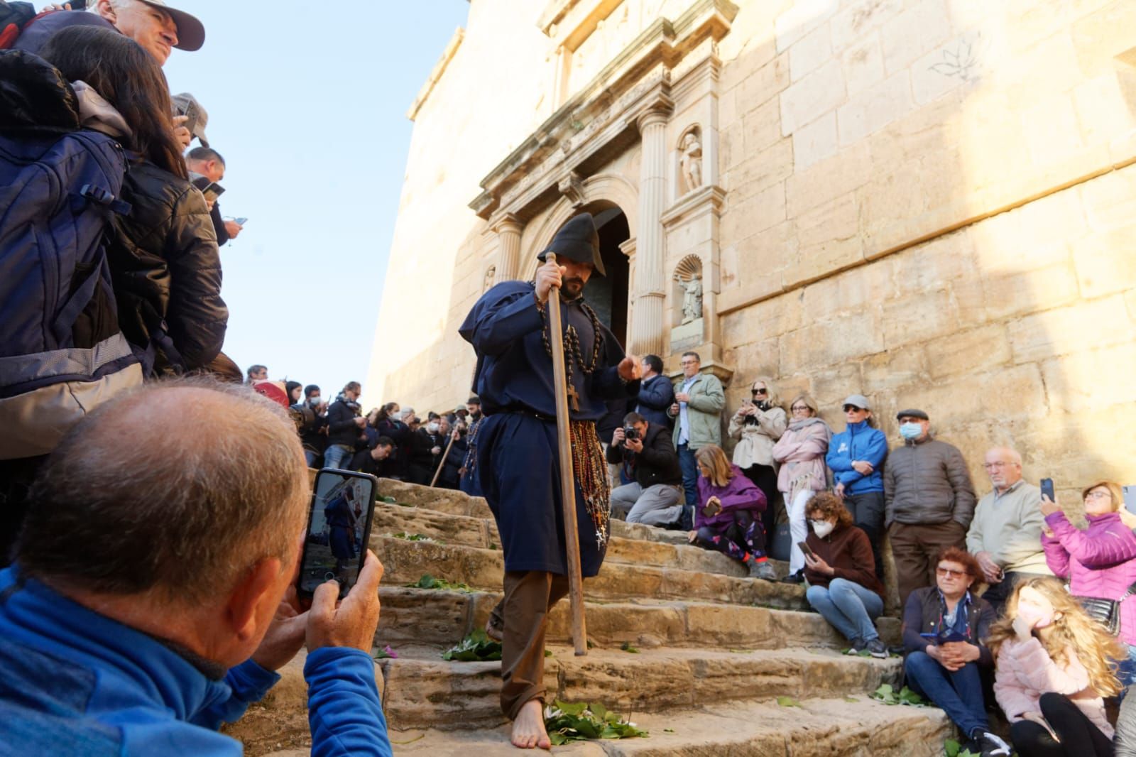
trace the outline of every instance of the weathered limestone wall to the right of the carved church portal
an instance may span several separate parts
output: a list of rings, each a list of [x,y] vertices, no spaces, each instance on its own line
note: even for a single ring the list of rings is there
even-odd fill
[[[976,482],[995,442],[1067,489],[1136,480],[1104,431],[1136,421],[1134,24],[1130,1],[745,6],[719,114],[732,402],[767,376],[841,426],[860,389],[893,439],[924,407]]]

